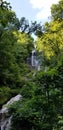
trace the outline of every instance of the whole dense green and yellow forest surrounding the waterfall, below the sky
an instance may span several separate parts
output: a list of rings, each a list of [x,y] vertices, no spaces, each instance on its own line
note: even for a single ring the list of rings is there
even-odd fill
[[[27,63],[34,45],[39,71]],[[19,20],[0,0],[0,108],[17,94],[22,100],[9,106],[11,130],[63,130],[63,0],[44,25]]]

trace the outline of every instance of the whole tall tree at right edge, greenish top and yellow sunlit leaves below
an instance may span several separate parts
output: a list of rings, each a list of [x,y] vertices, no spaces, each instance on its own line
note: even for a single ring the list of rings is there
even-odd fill
[[[51,57],[62,55],[63,50],[63,1],[52,5],[50,23],[46,22],[43,26],[43,34],[37,40],[37,49],[42,50],[44,55],[51,59]]]

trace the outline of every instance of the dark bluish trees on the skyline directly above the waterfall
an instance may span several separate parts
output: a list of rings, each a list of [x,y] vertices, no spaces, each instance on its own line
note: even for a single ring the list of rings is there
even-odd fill
[[[20,30],[22,33],[27,33],[29,35],[34,34],[40,37],[42,34],[42,26],[36,21],[29,23],[29,21],[22,17],[20,20]]]

